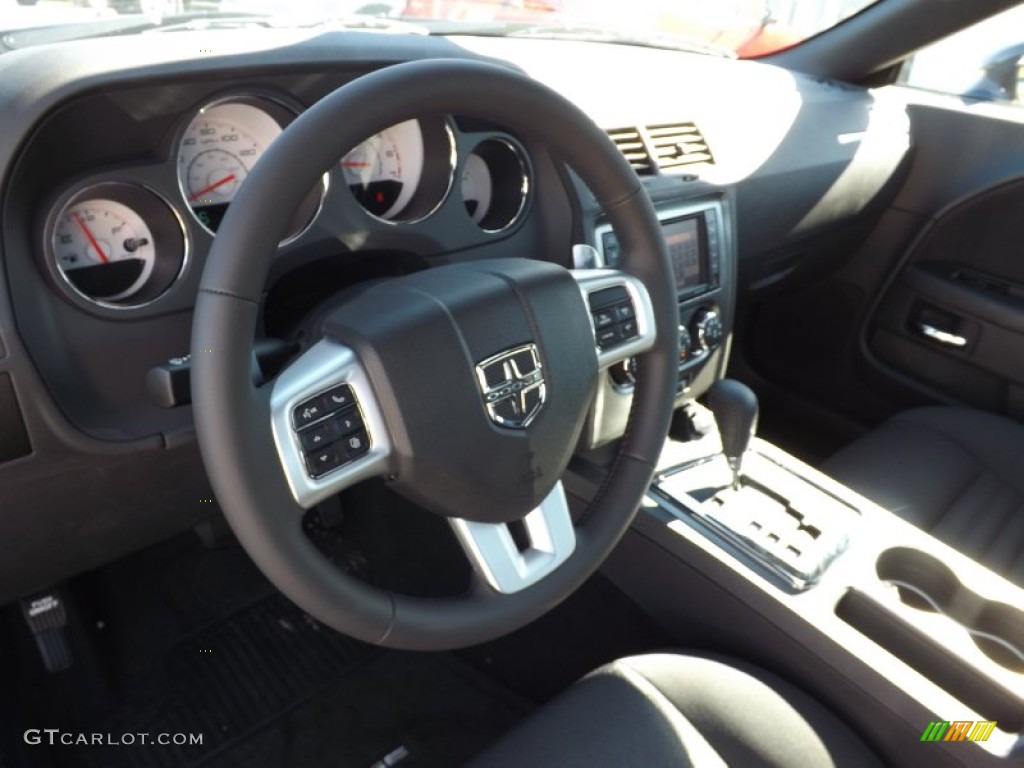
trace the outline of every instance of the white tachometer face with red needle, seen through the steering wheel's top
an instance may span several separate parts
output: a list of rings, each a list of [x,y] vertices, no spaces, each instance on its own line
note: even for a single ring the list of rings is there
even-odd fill
[[[387,128],[342,158],[345,182],[359,205],[382,219],[409,206],[423,175],[423,132],[416,120]]]

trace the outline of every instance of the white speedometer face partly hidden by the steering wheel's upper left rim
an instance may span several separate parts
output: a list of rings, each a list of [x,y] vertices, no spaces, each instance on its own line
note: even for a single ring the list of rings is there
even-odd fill
[[[202,110],[178,146],[178,183],[200,223],[216,231],[228,204],[281,125],[249,103],[221,102]]]

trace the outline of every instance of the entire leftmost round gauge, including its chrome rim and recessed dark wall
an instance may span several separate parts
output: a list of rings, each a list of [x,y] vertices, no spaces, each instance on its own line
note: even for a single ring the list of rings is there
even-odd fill
[[[167,201],[138,184],[82,187],[58,199],[45,227],[49,271],[79,302],[138,307],[163,294],[184,268],[181,219]]]

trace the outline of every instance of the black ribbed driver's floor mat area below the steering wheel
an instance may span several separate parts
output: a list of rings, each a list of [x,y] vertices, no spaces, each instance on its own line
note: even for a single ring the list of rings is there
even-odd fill
[[[244,738],[378,651],[306,616],[281,596],[179,640],[89,733],[202,734],[202,744],[89,745],[72,765],[177,768]],[[63,761],[61,761],[63,762]]]

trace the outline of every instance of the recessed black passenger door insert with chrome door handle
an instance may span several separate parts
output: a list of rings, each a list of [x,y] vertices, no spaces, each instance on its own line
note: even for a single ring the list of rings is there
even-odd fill
[[[947,209],[911,247],[868,328],[897,372],[1024,417],[1024,180]]]

